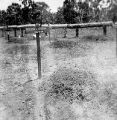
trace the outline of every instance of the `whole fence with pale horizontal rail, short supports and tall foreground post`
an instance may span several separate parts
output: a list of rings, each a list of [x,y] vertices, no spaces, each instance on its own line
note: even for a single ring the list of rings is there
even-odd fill
[[[116,43],[117,43],[117,27],[116,24],[113,24],[112,21],[108,21],[108,22],[93,22],[93,23],[82,23],[82,24],[54,24],[54,25],[42,25],[41,28],[38,28],[37,33],[36,33],[36,41],[37,41],[37,61],[38,61],[38,78],[41,78],[41,56],[40,56],[40,37],[39,37],[39,31],[44,31],[47,29],[50,31],[51,29],[59,29],[59,28],[69,28],[69,29],[76,29],[76,37],[79,36],[79,29],[80,28],[89,28],[89,27],[102,27],[103,28],[103,34],[106,35],[107,34],[107,27],[108,26],[112,26],[116,28]],[[1,26],[0,30],[2,31],[2,36],[4,31],[14,31],[14,36],[17,37],[17,30],[21,31],[21,37],[23,37],[23,31],[26,28],[35,28],[36,30],[36,26],[35,24],[28,24],[28,25],[12,25],[12,26]],[[10,34],[10,33],[9,33]],[[8,35],[8,40],[9,40],[9,34]],[[50,32],[49,32],[50,34]],[[66,37],[66,32],[65,35]],[[50,39],[50,37],[49,37]],[[117,46],[117,45],[116,45]],[[116,53],[117,53],[117,47],[116,47]]]

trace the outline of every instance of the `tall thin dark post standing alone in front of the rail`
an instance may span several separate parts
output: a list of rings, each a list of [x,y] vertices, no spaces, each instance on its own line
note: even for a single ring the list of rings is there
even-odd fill
[[[41,78],[41,49],[40,49],[40,36],[39,32],[36,33],[37,42],[37,62],[38,62],[38,77]]]

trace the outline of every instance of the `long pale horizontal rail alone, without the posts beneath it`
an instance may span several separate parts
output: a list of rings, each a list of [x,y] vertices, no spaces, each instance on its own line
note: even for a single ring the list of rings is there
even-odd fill
[[[116,24],[115,24],[116,25]],[[113,26],[112,21],[107,22],[92,22],[92,23],[81,23],[81,24],[44,24],[42,27],[49,27],[51,29],[57,28],[87,28],[87,27],[103,27],[103,26]],[[35,28],[35,24],[26,25],[10,25],[10,26],[0,26],[0,30],[3,29],[25,29],[25,28]]]

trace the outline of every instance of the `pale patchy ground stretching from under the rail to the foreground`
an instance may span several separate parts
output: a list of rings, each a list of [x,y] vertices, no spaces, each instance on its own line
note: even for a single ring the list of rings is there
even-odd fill
[[[62,29],[57,36],[52,30],[50,41],[41,40],[41,79],[36,40],[28,32],[24,38],[11,32],[10,42],[0,38],[0,120],[116,120],[115,30],[103,36],[100,28],[84,28],[79,38],[74,30],[67,38]]]

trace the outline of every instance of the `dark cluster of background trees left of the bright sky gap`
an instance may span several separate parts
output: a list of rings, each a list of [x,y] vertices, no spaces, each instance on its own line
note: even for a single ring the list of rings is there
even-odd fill
[[[6,11],[0,11],[1,25],[19,25],[28,23],[53,23],[53,14],[45,2],[31,2],[22,0],[21,7],[18,3],[12,3]]]

